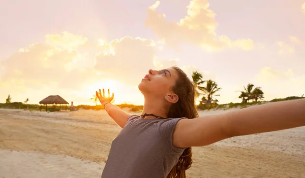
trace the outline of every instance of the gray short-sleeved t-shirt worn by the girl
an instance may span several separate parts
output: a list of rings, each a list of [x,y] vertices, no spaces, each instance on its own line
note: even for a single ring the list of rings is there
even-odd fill
[[[139,119],[131,116],[113,139],[102,178],[162,178],[185,148],[172,145],[176,123],[183,118]]]

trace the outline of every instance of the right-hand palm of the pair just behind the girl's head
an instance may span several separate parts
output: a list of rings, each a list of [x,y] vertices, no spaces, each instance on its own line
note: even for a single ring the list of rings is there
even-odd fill
[[[200,89],[201,91],[204,92],[204,97],[202,97],[201,102],[204,102],[207,105],[209,105],[213,101],[214,98],[213,96],[220,96],[219,94],[215,94],[215,93],[221,90],[221,88],[218,88],[218,84],[212,80],[208,80],[205,82],[206,82],[206,87],[201,87]]]

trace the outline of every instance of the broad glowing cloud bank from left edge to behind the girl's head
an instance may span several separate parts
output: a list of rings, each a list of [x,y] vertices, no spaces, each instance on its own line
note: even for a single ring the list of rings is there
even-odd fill
[[[91,42],[68,32],[47,34],[45,38],[44,43],[30,44],[1,61],[2,99],[11,94],[14,101],[29,97],[31,103],[37,103],[48,95],[64,94],[69,102],[79,104],[90,102],[99,87],[111,85],[114,90],[119,88],[116,95],[119,102],[128,101],[131,95],[139,97],[137,85],[149,69],[167,68],[179,62],[176,58],[157,58],[158,44],[163,44],[162,41],[124,37],[111,42],[103,39]],[[194,70],[201,72],[195,66],[180,67],[190,78]],[[212,76],[208,72],[203,75],[204,79]]]

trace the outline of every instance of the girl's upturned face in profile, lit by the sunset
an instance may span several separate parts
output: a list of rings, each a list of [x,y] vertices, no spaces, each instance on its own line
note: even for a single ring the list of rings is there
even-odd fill
[[[178,73],[174,68],[162,70],[148,70],[139,84],[139,90],[143,95],[150,95],[158,98],[173,94],[171,88],[178,79]]]

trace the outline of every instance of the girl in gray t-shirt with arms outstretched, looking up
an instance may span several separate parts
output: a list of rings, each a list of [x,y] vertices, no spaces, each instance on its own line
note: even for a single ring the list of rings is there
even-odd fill
[[[102,178],[186,177],[191,147],[233,136],[305,125],[305,99],[280,101],[219,115],[199,117],[195,88],[178,67],[149,70],[138,86],[142,115],[111,104],[113,93],[96,93],[109,116],[123,128],[111,144]]]

